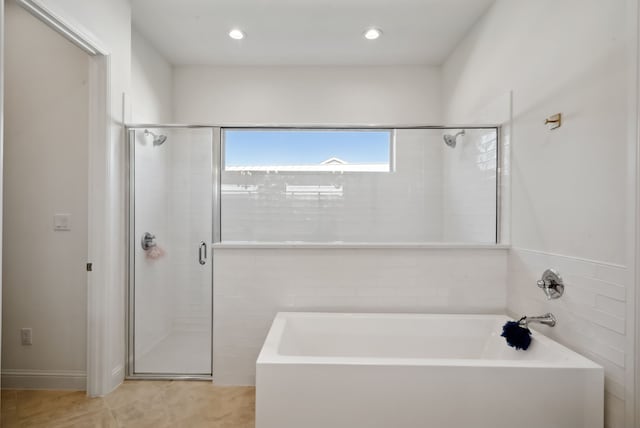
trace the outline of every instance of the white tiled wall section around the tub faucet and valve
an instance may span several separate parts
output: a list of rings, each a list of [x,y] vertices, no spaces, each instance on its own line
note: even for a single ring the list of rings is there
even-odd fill
[[[547,268],[560,271],[565,293],[547,300],[536,285]],[[509,251],[511,315],[552,312],[558,324],[540,330],[605,369],[606,427],[624,426],[627,269],[520,248]]]

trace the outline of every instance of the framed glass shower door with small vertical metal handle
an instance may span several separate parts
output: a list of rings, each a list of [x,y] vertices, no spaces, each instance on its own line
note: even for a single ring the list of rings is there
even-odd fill
[[[213,130],[129,139],[129,375],[210,376]]]

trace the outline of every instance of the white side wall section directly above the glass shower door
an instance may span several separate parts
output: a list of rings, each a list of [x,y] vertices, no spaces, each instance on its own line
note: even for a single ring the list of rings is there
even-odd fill
[[[135,29],[131,32],[131,120],[172,123],[173,67]]]

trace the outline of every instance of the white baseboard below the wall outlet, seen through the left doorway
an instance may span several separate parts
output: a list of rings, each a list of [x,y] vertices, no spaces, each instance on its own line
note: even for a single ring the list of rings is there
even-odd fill
[[[87,374],[78,370],[2,370],[2,389],[85,391]]]

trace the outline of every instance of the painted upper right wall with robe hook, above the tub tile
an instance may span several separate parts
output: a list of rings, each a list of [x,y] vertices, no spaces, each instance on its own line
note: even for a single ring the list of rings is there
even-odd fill
[[[615,191],[627,176],[619,167],[626,165],[625,1],[568,0],[553,3],[553,14],[544,9],[551,3],[511,4],[498,2],[444,65],[445,117],[464,120],[513,90],[514,242],[625,263],[625,211]],[[560,111],[565,126],[549,132],[540,121]],[[577,154],[580,162],[567,163]],[[561,173],[569,177],[558,180]]]

